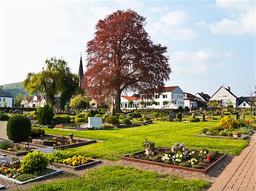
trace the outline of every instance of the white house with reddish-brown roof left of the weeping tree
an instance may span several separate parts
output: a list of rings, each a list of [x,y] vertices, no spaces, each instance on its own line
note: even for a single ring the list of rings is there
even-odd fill
[[[22,108],[37,108],[44,107],[46,105],[46,99],[44,95],[35,95],[32,98],[26,97],[20,102],[20,107]]]

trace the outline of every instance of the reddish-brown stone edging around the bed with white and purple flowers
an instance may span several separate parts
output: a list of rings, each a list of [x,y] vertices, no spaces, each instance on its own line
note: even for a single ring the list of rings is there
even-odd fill
[[[171,147],[163,147],[163,148],[171,148]],[[134,154],[141,154],[145,151],[140,151],[140,152],[135,152]],[[134,158],[130,158],[129,155],[126,156],[122,156],[122,160],[126,160],[129,162],[135,162],[135,163],[144,163],[144,164],[150,164],[150,165],[159,165],[161,167],[167,167],[167,168],[176,168],[176,169],[182,169],[185,171],[191,171],[191,172],[200,172],[200,173],[207,173],[212,167],[214,167],[214,165],[216,165],[217,163],[219,163],[222,159],[225,158],[225,156],[227,155],[226,153],[221,153],[219,152],[219,155],[222,155],[218,160],[216,160],[214,163],[210,164],[207,168],[205,169],[197,169],[197,168],[190,168],[190,167],[181,167],[179,165],[174,165],[174,164],[164,164],[164,163],[159,163],[159,162],[153,162],[153,161],[149,161],[149,160],[142,160],[142,159],[134,159]]]

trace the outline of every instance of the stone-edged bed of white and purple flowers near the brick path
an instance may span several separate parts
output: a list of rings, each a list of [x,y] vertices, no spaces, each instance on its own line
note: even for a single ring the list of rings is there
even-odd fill
[[[187,150],[183,143],[180,145],[175,143],[172,147],[156,147],[152,155],[146,155],[145,151],[141,151],[123,156],[122,160],[207,173],[225,156],[224,153],[208,152],[206,149],[200,151]]]

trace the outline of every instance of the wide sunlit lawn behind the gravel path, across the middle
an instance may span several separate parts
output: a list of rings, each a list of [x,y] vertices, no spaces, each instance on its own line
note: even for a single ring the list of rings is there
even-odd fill
[[[68,135],[69,133],[73,133],[74,137],[102,140],[103,142],[71,149],[82,155],[91,156],[92,158],[119,160],[123,155],[142,151],[143,137],[148,137],[151,141],[155,142],[155,146],[171,147],[175,142],[184,142],[187,148],[208,148],[209,150],[226,152],[229,155],[239,155],[243,148],[249,143],[248,141],[193,136],[200,134],[201,129],[205,126],[214,126],[217,122],[218,121],[185,123],[154,121],[154,124],[151,125],[127,129],[85,131],[44,130],[47,134]]]

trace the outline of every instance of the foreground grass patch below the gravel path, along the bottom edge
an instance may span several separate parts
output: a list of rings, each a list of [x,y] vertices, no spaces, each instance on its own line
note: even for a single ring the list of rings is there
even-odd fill
[[[30,191],[43,190],[172,190],[196,191],[209,186],[205,180],[185,180],[174,175],[162,175],[119,165],[94,169],[77,179],[38,184]]]

